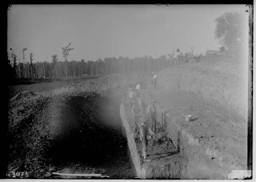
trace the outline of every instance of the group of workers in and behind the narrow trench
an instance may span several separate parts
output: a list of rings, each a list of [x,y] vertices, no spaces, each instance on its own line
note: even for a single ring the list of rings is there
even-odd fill
[[[157,74],[153,72],[153,84],[154,89],[156,87]],[[134,132],[136,135],[139,133],[139,138],[142,142],[142,152],[144,160],[147,156],[147,136],[154,136],[155,132],[158,132],[157,125],[157,110],[155,100],[151,100],[151,103],[146,107],[140,95],[140,84],[136,87],[129,88],[128,90],[130,107],[134,116]]]

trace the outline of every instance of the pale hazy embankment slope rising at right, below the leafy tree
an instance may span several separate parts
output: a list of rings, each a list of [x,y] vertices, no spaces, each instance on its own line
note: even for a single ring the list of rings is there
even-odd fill
[[[247,118],[248,62],[245,55],[229,53],[205,57],[205,61],[169,67],[160,71],[158,86],[198,95],[220,113]]]

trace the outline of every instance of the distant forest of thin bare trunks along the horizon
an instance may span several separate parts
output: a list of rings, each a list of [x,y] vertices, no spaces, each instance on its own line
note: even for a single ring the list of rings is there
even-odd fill
[[[70,45],[70,44],[69,44]],[[179,49],[173,51],[167,56],[163,55],[158,58],[152,56],[136,57],[134,59],[128,57],[104,58],[97,61],[68,61],[69,51],[73,48],[62,47],[63,58],[65,61],[58,61],[57,55],[51,56],[51,61],[34,62],[34,55],[31,53],[29,61],[25,59],[17,59],[15,54],[11,54],[8,64],[11,66],[12,75],[16,79],[22,78],[50,78],[50,77],[69,77],[83,75],[105,75],[113,73],[127,72],[150,72],[158,71],[166,66],[180,64],[182,62],[190,62],[193,55],[187,53],[183,55]],[[23,49],[23,53],[26,48]],[[180,52],[175,58],[175,52]],[[25,61],[26,60],[26,61]]]

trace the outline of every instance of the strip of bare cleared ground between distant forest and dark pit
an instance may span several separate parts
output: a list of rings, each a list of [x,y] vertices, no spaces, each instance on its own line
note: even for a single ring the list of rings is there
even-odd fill
[[[51,83],[40,83],[31,85],[16,85],[9,86],[9,98],[14,97],[23,91],[29,91],[40,95],[52,96],[59,94],[79,94],[81,92],[92,91],[101,95],[116,94],[120,96],[126,93],[131,86],[136,86],[138,83],[145,84],[150,79],[147,73],[124,73],[105,75],[95,79],[77,79],[72,82],[56,81]],[[115,96],[116,96],[115,95]]]

